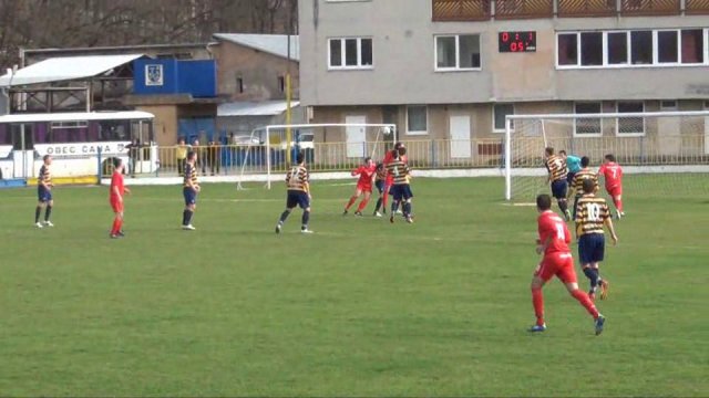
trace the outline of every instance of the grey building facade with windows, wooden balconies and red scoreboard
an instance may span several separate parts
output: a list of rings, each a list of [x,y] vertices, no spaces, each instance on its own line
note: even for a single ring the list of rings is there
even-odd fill
[[[311,123],[474,140],[507,114],[709,108],[703,0],[309,0],[299,29]]]

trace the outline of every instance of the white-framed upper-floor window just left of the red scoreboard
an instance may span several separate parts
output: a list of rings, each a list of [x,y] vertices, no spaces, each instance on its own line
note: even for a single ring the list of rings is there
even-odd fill
[[[435,38],[436,71],[480,70],[480,34]]]

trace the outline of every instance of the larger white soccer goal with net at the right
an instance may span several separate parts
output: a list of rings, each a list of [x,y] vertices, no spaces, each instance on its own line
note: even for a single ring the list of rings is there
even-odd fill
[[[624,191],[641,196],[707,193],[709,111],[510,115],[505,121],[505,198],[534,202],[548,193],[544,149],[588,156],[597,170],[613,154]]]

